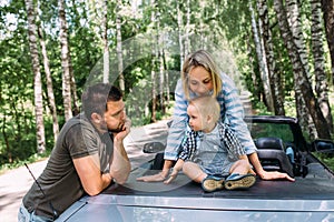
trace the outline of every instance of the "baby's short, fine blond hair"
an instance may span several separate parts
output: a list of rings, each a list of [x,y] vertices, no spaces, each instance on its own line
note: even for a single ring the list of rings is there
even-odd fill
[[[204,95],[194,98],[189,101],[189,105],[194,105],[203,117],[212,115],[214,122],[220,119],[220,105],[216,98]]]

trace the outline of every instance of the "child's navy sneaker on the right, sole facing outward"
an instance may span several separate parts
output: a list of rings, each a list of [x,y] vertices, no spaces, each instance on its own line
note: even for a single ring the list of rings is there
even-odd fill
[[[254,174],[248,173],[245,175],[240,175],[238,173],[232,173],[225,181],[226,190],[235,190],[235,189],[248,189],[256,182],[256,178]]]

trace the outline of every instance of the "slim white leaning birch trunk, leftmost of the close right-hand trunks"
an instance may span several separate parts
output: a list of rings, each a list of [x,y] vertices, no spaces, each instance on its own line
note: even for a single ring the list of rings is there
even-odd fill
[[[252,1],[249,1],[249,11],[250,11],[250,16],[252,16],[252,30],[253,30],[253,36],[254,36],[257,61],[258,61],[258,65],[259,65],[259,73],[261,73],[261,79],[263,81],[265,104],[267,105],[267,109],[269,111],[274,111],[271,83],[269,83],[269,79],[268,79],[267,61],[266,61],[266,56],[265,56],[265,51],[263,48],[263,41],[261,38],[263,28],[262,28],[262,23],[259,23],[258,27],[259,27],[261,31],[258,32]]]

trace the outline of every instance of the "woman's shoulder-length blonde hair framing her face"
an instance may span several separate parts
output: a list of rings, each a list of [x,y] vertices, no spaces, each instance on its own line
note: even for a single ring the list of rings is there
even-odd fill
[[[222,90],[223,84],[219,75],[219,69],[216,65],[215,60],[213,59],[210,53],[208,53],[205,50],[198,50],[194,53],[188,54],[183,65],[181,80],[186,98],[190,98],[188,74],[191,71],[191,69],[196,67],[203,67],[206,71],[209,72],[214,85],[213,97],[217,97]]]

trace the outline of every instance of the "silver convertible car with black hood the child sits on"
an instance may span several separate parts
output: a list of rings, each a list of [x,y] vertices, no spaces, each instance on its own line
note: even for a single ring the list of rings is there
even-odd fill
[[[170,184],[136,181],[161,169],[166,127],[157,137],[129,143],[140,147],[140,153],[130,158],[135,167],[126,184],[82,196],[57,221],[334,221],[334,173],[314,154],[333,154],[334,142],[306,141],[295,118],[256,115],[245,121],[264,169],[286,172],[295,182],[257,179],[248,190],[206,193],[183,173]]]

